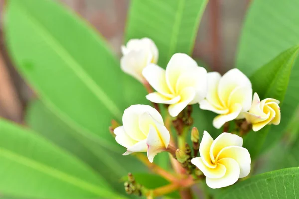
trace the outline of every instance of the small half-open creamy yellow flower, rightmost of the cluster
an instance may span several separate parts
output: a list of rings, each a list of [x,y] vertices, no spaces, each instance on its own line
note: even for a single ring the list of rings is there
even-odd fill
[[[245,113],[248,123],[252,124],[253,131],[259,131],[267,124],[278,125],[280,123],[280,102],[273,98],[260,101],[259,95],[254,93],[249,112]]]

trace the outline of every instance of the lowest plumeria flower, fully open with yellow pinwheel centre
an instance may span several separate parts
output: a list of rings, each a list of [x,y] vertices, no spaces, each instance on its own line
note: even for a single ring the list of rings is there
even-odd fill
[[[206,176],[210,188],[227,187],[250,173],[250,154],[242,147],[243,139],[231,133],[222,133],[215,140],[204,131],[199,146],[200,157],[194,164]]]

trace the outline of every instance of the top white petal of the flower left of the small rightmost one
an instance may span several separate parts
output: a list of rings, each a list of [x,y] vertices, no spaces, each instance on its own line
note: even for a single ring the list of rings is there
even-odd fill
[[[218,94],[222,104],[227,104],[229,95],[236,87],[251,88],[251,82],[246,75],[235,68],[226,72],[219,81]]]

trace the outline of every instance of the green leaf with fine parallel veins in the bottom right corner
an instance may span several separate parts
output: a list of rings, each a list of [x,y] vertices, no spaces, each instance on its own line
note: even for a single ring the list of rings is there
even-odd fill
[[[299,167],[268,172],[225,188],[215,199],[299,198]]]

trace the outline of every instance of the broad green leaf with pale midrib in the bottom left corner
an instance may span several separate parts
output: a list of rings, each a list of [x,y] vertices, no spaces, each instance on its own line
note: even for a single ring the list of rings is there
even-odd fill
[[[0,120],[0,192],[27,198],[122,198],[104,179],[60,148]]]

